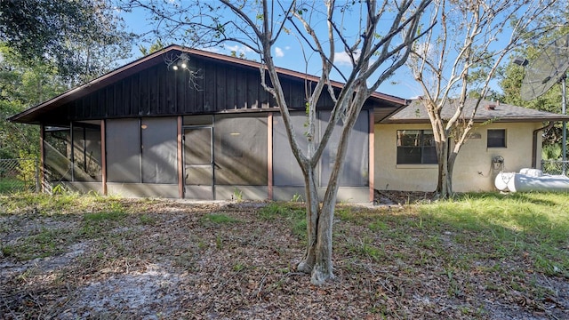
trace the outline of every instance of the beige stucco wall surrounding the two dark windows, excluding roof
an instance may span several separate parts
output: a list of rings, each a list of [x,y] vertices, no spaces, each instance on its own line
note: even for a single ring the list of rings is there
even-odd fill
[[[518,172],[532,166],[533,131],[541,123],[477,125],[470,139],[461,148],[453,171],[456,192],[493,191],[494,156],[504,158],[504,172]],[[405,191],[434,191],[437,187],[437,164],[397,164],[397,130],[430,130],[430,124],[375,124],[374,126],[374,187]],[[506,130],[506,148],[486,148],[488,129]],[[477,135],[476,134],[476,135]],[[538,134],[537,164],[541,162],[541,134]]]

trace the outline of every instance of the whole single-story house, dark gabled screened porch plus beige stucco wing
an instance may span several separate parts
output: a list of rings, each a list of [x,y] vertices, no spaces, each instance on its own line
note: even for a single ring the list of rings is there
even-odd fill
[[[261,86],[260,67],[171,45],[8,120],[41,126],[44,188],[63,184],[101,195],[290,200],[304,195],[304,180],[276,102]],[[301,136],[305,90],[317,78],[287,69],[278,73]],[[338,90],[341,85],[333,83]],[[434,189],[429,122],[409,102],[379,92],[365,102],[349,138],[339,201],[371,202],[374,189]],[[320,128],[332,108],[323,95],[317,103]],[[492,121],[478,127],[461,151],[454,171],[457,191],[493,189],[496,156],[503,157],[507,170],[533,166],[533,158],[539,163],[542,123],[565,119],[506,105],[479,111],[477,121]],[[410,145],[411,140],[421,143]],[[318,164],[323,192],[334,148],[331,140]]]

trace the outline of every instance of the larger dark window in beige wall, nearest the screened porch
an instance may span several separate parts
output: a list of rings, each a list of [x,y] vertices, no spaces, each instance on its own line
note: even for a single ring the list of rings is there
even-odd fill
[[[437,164],[432,130],[397,130],[397,164]]]

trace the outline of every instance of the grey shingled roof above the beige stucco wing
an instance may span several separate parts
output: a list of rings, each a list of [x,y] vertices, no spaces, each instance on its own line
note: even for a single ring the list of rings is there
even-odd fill
[[[466,101],[462,114],[469,118],[472,110],[476,107],[476,99]],[[453,116],[456,110],[453,100],[449,100],[442,110],[444,119]],[[568,121],[569,116],[559,115],[547,111],[532,108],[517,107],[501,102],[481,100],[474,116],[475,122],[544,122],[544,121]],[[407,107],[400,109],[396,114],[381,121],[383,124],[422,124],[429,123],[429,115],[421,99],[413,100]]]

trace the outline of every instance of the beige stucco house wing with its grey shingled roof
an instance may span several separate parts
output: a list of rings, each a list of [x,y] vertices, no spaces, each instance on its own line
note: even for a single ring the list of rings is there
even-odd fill
[[[477,100],[467,100],[463,115],[472,115]],[[450,118],[456,110],[449,100],[442,110]],[[495,190],[496,175],[540,168],[541,135],[549,125],[569,120],[531,108],[482,100],[474,116],[475,127],[462,146],[453,169],[453,191]],[[429,116],[421,99],[374,125],[375,188],[433,191],[437,188],[437,154]],[[387,148],[387,149],[386,149]],[[449,143],[453,148],[453,142]]]

